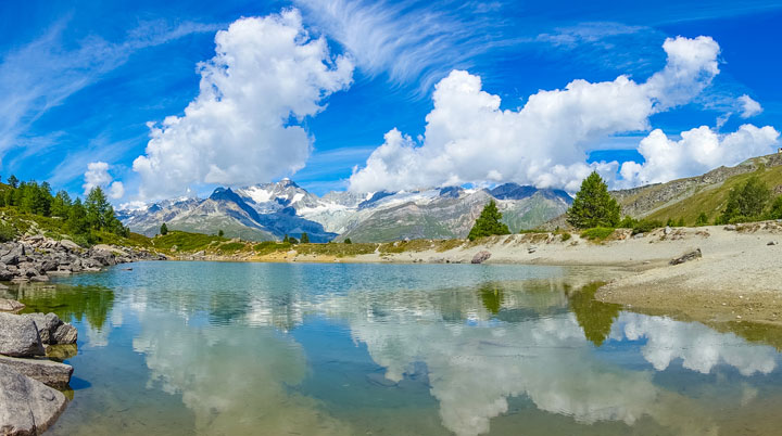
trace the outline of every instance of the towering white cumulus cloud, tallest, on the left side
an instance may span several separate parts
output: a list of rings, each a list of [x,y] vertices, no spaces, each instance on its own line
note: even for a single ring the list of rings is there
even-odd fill
[[[352,80],[352,62],[311,38],[297,10],[238,20],[215,44],[215,56],[199,64],[200,93],[185,115],[150,125],[146,155],[134,162],[141,197],[301,169],[312,138],[300,123]]]

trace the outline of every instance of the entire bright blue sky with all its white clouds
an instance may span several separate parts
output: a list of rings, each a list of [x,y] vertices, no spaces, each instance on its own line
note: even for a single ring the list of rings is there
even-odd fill
[[[2,2],[0,177],[116,205],[285,177],[575,192],[775,152],[782,2],[634,3]]]

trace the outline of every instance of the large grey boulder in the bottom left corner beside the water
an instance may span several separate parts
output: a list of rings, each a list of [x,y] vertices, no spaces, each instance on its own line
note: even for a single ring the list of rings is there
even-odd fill
[[[0,434],[39,435],[56,421],[66,405],[62,393],[0,366]]]

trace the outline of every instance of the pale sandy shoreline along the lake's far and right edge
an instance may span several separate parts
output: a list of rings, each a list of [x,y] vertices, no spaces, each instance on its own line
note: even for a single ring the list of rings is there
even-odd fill
[[[416,251],[354,256],[299,254],[295,247],[263,256],[177,256],[172,260],[342,264],[470,264],[481,252],[488,265],[613,267],[627,274],[595,294],[597,300],[635,311],[714,322],[782,326],[782,223],[665,228],[632,235],[619,229],[603,242],[572,234],[526,233],[463,242],[449,249],[431,241]],[[703,257],[671,266],[701,249]]]

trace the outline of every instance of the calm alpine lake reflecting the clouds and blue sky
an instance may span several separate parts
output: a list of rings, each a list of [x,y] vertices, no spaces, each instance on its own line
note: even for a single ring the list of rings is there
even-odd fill
[[[52,435],[782,434],[779,332],[596,302],[621,273],[148,261],[5,293],[78,329]]]

